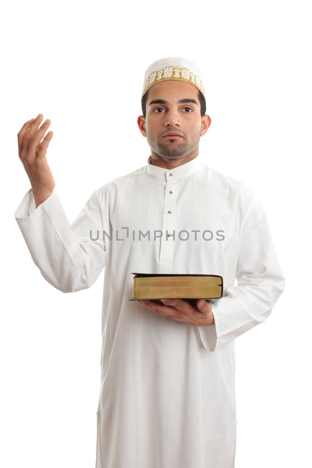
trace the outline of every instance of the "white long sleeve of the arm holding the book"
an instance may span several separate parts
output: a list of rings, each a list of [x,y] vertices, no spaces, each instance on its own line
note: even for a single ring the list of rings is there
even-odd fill
[[[268,219],[254,194],[243,223],[236,279],[237,286],[228,287],[224,297],[213,303],[215,324],[198,327],[209,351],[264,322],[285,287]]]

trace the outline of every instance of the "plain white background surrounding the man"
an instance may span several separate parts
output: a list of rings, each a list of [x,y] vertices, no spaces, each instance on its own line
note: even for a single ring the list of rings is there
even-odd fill
[[[101,375],[104,271],[75,294],[41,276],[14,218],[30,189],[17,132],[38,113],[51,119],[47,158],[73,222],[95,189],[146,164],[137,125],[144,72],[180,56],[205,75],[212,123],[200,152],[258,192],[286,277],[267,321],[236,339],[235,466],[307,466],[308,2],[24,1],[7,2],[1,16],[0,465],[93,468]]]

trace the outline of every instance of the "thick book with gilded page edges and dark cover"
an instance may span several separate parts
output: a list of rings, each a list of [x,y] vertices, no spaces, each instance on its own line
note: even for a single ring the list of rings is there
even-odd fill
[[[132,273],[129,300],[205,299],[215,302],[223,294],[223,278],[218,275]],[[161,302],[162,303],[162,302]]]

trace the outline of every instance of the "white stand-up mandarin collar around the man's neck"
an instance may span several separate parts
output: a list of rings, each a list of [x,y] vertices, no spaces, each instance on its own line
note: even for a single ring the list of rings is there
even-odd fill
[[[191,176],[203,168],[203,158],[200,154],[189,162],[185,162],[173,169],[160,168],[151,164],[152,156],[150,155],[147,160],[146,168],[147,173],[154,179],[160,179],[166,182],[177,182],[182,177]]]

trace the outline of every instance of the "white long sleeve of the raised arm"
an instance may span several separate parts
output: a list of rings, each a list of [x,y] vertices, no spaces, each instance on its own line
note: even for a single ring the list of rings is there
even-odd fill
[[[15,211],[15,219],[34,263],[59,291],[89,288],[105,265],[102,218],[96,192],[72,225],[55,190],[36,208],[30,189]],[[92,240],[97,238],[97,231],[98,239]]]

